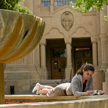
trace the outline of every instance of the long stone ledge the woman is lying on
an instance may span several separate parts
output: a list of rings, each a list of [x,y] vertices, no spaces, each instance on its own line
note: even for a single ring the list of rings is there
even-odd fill
[[[46,95],[5,95],[6,102],[48,102],[48,101],[68,101],[68,100],[83,100],[83,99],[95,99],[95,98],[108,98],[107,95],[95,95],[95,96],[57,96],[47,97]]]

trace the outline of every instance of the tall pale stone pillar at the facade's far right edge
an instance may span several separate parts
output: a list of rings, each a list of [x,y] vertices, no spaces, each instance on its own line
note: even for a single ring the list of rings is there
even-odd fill
[[[102,68],[107,68],[107,22],[104,16],[107,15],[107,6],[103,6],[103,11],[100,12],[100,38],[101,38],[101,53],[102,53]]]

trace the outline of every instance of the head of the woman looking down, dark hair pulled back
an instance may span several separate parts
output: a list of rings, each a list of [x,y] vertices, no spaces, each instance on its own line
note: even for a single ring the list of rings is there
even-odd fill
[[[77,74],[82,75],[86,80],[88,80],[94,73],[94,66],[92,64],[86,63],[81,66],[77,71]]]

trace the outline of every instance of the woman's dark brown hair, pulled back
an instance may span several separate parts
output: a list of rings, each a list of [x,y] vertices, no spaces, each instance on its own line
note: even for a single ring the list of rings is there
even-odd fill
[[[81,68],[76,72],[77,74],[80,74],[80,75],[83,75],[83,69],[84,69],[84,71],[88,71],[88,70],[90,70],[90,71],[93,71],[94,72],[94,66],[92,65],[92,64],[90,64],[90,63],[86,63],[86,64],[83,64],[82,66],[81,66]]]

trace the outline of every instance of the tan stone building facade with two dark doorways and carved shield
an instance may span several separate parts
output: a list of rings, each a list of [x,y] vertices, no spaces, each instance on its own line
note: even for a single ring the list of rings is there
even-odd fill
[[[5,93],[31,93],[35,83],[69,80],[85,63],[95,66],[96,89],[107,86],[108,6],[80,14],[69,6],[71,0],[25,0],[33,15],[45,21],[39,45],[25,58],[5,66]],[[73,0],[75,2],[75,0]],[[28,28],[29,29],[29,28]],[[103,84],[103,82],[106,82]]]

